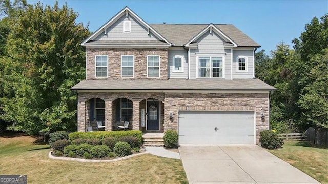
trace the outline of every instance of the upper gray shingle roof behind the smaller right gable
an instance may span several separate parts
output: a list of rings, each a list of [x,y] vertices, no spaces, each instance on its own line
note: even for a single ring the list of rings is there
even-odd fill
[[[167,38],[171,43],[182,46],[187,44],[208,24],[149,24],[161,35]],[[253,39],[245,35],[232,24],[215,24],[224,34],[230,37],[238,46],[260,47]]]

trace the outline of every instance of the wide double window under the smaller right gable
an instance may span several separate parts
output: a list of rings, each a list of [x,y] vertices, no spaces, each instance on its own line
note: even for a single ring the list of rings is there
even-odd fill
[[[223,56],[198,57],[198,78],[223,78]]]

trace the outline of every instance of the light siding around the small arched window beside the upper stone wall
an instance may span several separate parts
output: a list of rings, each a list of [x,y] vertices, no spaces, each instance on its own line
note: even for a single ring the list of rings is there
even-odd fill
[[[173,72],[173,57],[183,57],[183,72]],[[168,78],[188,78],[188,52],[182,50],[168,50]]]

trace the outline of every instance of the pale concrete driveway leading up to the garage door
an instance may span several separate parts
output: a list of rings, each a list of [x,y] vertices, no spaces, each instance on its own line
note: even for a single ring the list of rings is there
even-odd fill
[[[257,145],[181,145],[192,183],[319,183]]]

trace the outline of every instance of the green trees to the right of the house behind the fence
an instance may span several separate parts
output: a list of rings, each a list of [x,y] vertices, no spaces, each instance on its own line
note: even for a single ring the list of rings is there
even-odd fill
[[[271,57],[256,53],[256,76],[277,90],[271,94],[271,128],[279,132],[328,127],[328,15],[314,17],[294,49],[280,43]]]

